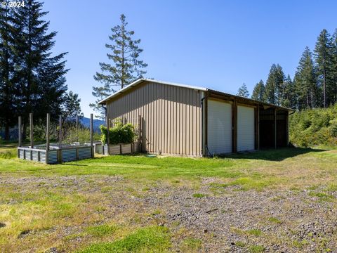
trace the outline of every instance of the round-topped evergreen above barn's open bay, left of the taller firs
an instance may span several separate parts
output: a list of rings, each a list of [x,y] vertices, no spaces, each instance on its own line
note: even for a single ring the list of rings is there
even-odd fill
[[[280,104],[281,101],[279,98],[282,98],[284,92],[281,89],[281,84],[283,84],[284,79],[282,67],[278,64],[273,64],[272,67],[270,67],[267,82],[265,83],[264,100],[267,103]]]

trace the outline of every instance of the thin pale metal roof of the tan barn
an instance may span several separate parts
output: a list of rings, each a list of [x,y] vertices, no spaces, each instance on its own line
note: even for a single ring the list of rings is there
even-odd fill
[[[138,84],[140,84],[142,82],[146,82],[146,81],[147,82],[154,82],[154,83],[157,83],[157,84],[166,84],[166,85],[178,86],[178,87],[183,87],[183,88],[188,88],[188,89],[195,89],[195,90],[198,90],[198,91],[209,91],[211,93],[218,93],[218,94],[223,95],[223,96],[231,96],[233,98],[239,98],[239,99],[242,99],[242,100],[246,100],[247,102],[251,102],[251,103],[258,103],[260,105],[264,105],[264,106],[268,106],[268,107],[275,107],[275,108],[280,108],[280,109],[283,109],[283,110],[293,111],[293,109],[290,109],[290,108],[285,108],[283,106],[274,105],[274,104],[271,104],[271,103],[261,102],[259,100],[254,100],[254,99],[251,99],[251,98],[244,98],[242,96],[232,95],[230,93],[225,93],[223,91],[216,91],[216,90],[213,90],[213,89],[208,89],[208,88],[200,87],[200,86],[192,86],[192,85],[187,85],[187,84],[177,84],[177,83],[173,83],[173,82],[164,82],[164,81],[159,81],[159,80],[156,80],[156,79],[147,79],[147,78],[141,78],[141,79],[136,80],[135,82],[129,84],[125,88],[120,89],[119,91],[113,93],[112,95],[108,96],[107,98],[105,98],[103,100],[100,100],[100,102],[98,102],[98,104],[105,104],[105,102],[107,100],[110,100],[111,98],[114,98],[114,97],[118,96],[119,94],[124,93],[125,91],[128,91],[129,89],[137,86]]]

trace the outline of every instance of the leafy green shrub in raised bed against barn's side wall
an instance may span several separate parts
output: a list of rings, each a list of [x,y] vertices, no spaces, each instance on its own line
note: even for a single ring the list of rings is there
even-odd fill
[[[101,136],[100,140],[103,144],[107,143],[107,127],[100,126]],[[114,127],[109,129],[109,141],[110,144],[119,144],[119,143],[133,143],[136,141],[137,134],[135,126],[132,124],[123,124],[121,120],[117,119],[114,122]]]

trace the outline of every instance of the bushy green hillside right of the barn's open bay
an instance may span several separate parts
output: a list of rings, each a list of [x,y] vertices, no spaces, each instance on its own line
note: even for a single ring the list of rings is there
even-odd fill
[[[337,146],[337,104],[295,112],[290,116],[290,141],[293,145]]]

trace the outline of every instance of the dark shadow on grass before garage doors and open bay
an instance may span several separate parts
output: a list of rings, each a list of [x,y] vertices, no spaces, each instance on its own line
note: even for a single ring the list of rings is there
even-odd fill
[[[233,155],[226,155],[223,157],[233,159],[256,159],[256,160],[268,160],[268,161],[282,161],[287,158],[296,157],[298,155],[304,155],[312,152],[323,152],[324,149],[314,148],[278,148],[259,150],[256,152],[238,153]]]

